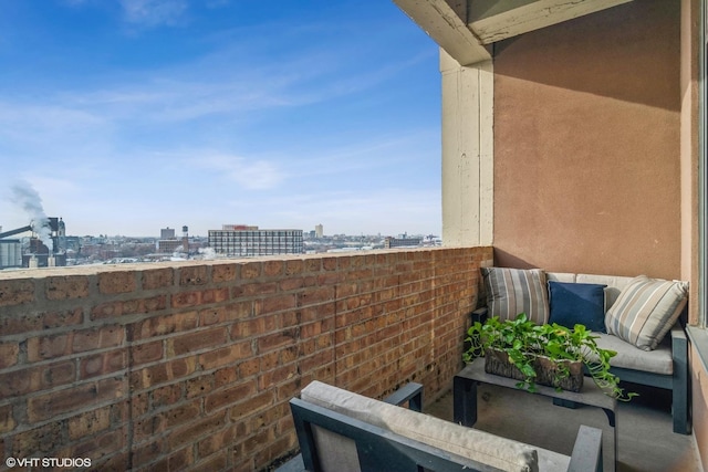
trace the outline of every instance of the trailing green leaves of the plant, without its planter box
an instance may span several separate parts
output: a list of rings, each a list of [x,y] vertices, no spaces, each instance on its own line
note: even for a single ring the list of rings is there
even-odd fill
[[[485,323],[476,322],[467,332],[469,348],[464,353],[466,363],[471,363],[491,350],[506,353],[523,377],[517,386],[535,391],[535,360],[545,357],[554,365],[554,385],[570,376],[569,361],[581,361],[592,379],[605,394],[618,400],[629,400],[637,394],[625,392],[620,378],[610,371],[610,359],[617,353],[602,349],[584,325],[573,329],[559,324],[537,325],[524,313],[516,319],[499,321],[498,316]],[[560,389],[560,387],[556,387]]]

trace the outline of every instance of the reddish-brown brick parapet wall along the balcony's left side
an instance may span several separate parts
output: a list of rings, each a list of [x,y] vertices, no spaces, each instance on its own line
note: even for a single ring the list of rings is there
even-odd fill
[[[0,469],[261,470],[313,379],[433,399],[491,248],[0,272]],[[63,469],[67,470],[67,469]]]

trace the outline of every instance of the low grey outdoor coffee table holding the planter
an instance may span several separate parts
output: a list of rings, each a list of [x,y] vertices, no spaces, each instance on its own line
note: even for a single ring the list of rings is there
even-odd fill
[[[601,408],[607,416],[610,426],[614,430],[614,461],[617,463],[617,427],[616,410],[617,399],[605,395],[594,381],[585,379],[583,388],[579,392],[561,390],[553,387],[537,385],[535,395],[550,397],[556,405],[585,405]],[[499,387],[517,389],[519,380],[502,377],[485,371],[482,360],[468,364],[459,374],[455,376],[452,384],[452,416],[456,423],[472,427],[477,422],[477,384],[496,385]]]

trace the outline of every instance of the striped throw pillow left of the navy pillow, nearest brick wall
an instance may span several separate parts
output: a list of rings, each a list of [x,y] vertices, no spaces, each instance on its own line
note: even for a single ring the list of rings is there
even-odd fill
[[[481,273],[490,316],[503,322],[525,313],[537,324],[548,323],[549,293],[542,270],[482,268]]]

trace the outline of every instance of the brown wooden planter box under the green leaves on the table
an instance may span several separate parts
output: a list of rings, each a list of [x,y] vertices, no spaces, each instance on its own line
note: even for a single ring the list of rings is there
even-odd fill
[[[561,360],[559,364],[569,369],[570,376],[556,380],[555,377],[559,370],[556,363],[544,356],[537,357],[533,361],[533,370],[535,370],[537,375],[535,384],[560,387],[563,390],[580,391],[583,388],[583,363],[581,360]],[[509,355],[503,350],[487,349],[485,353],[485,371],[517,380],[525,379],[521,370],[509,361]]]

